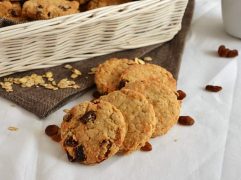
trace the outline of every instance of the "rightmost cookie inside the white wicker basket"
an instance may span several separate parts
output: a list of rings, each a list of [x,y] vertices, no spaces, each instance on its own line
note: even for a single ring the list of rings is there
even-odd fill
[[[127,2],[131,2],[132,0],[91,0],[88,5],[87,9],[96,9],[100,7],[110,6],[110,5],[118,5]]]

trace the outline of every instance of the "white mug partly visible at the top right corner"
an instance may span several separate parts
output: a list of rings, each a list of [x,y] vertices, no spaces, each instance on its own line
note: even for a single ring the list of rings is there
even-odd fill
[[[241,0],[222,0],[222,15],[225,31],[241,38]]]

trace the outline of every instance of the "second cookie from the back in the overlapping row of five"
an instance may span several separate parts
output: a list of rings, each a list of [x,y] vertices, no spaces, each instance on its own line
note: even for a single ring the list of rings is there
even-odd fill
[[[176,80],[170,72],[155,64],[135,64],[126,69],[119,80],[119,86],[124,87],[128,82],[140,81],[148,78],[158,78],[174,91],[176,91]]]

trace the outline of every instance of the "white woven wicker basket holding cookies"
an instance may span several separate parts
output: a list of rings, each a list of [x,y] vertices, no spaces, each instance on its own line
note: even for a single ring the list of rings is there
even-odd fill
[[[166,42],[188,0],[141,0],[0,28],[0,77]]]

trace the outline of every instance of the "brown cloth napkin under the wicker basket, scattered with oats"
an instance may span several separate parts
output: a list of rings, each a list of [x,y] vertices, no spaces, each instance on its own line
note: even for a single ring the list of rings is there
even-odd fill
[[[96,67],[98,64],[104,62],[111,57],[119,58],[135,58],[135,57],[147,57],[153,58],[151,63],[161,65],[171,71],[175,78],[178,76],[181,56],[185,44],[185,37],[191,24],[191,19],[194,9],[194,0],[189,0],[181,31],[171,41],[162,45],[152,45],[139,49],[127,50],[122,52],[116,52],[109,55],[95,57],[92,59],[70,63],[73,67],[79,69],[82,72],[82,76],[75,80],[79,89],[60,89],[57,91],[47,90],[42,87],[39,88],[21,88],[14,85],[14,92],[7,93],[0,88],[0,96],[18,104],[24,109],[36,114],[39,118],[45,118],[50,113],[54,112],[69,100],[83,95],[89,88],[94,86],[94,76],[89,75],[90,69]],[[62,66],[33,70],[28,72],[16,73],[11,77],[22,77],[26,75],[44,74],[47,71],[52,71],[54,78],[58,81],[62,78],[69,77],[71,72]],[[0,79],[0,81],[2,78]]]

